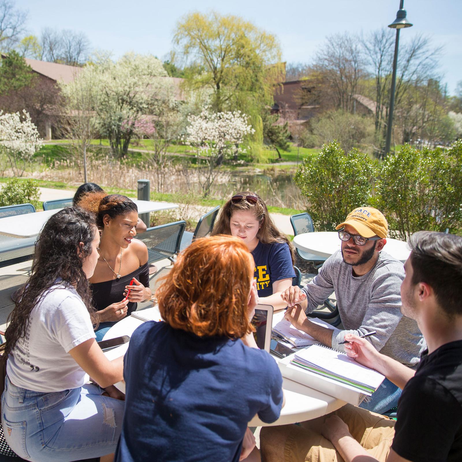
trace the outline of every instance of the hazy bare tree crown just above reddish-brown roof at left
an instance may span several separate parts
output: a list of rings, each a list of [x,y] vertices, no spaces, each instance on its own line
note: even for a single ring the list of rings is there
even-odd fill
[[[90,42],[83,32],[55,30],[46,27],[40,38],[41,59],[70,66],[84,64],[88,57]]]

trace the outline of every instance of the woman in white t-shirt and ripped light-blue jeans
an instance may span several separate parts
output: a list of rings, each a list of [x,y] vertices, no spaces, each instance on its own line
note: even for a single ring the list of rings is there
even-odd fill
[[[95,341],[88,279],[98,244],[91,213],[69,207],[52,215],[12,311],[1,420],[7,443],[24,459],[109,461],[116,450],[124,401],[114,387],[85,385],[85,372],[101,387],[123,373],[123,358],[109,361]]]

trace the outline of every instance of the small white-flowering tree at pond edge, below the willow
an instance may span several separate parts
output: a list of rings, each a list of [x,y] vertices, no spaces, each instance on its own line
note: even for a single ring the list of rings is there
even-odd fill
[[[221,165],[223,159],[231,156],[237,158],[238,154],[246,152],[245,147],[241,146],[244,137],[255,133],[247,119],[247,115],[241,111],[211,113],[207,108],[198,116],[189,114],[189,125],[183,141],[188,146],[194,146],[197,157],[201,156],[206,161],[207,170],[199,178],[204,196],[209,195],[217,175],[215,168]]]

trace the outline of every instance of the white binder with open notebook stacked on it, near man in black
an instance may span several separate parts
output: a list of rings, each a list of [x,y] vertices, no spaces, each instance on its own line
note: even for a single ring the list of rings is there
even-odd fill
[[[279,361],[283,377],[358,406],[385,378],[345,353],[312,345]]]

